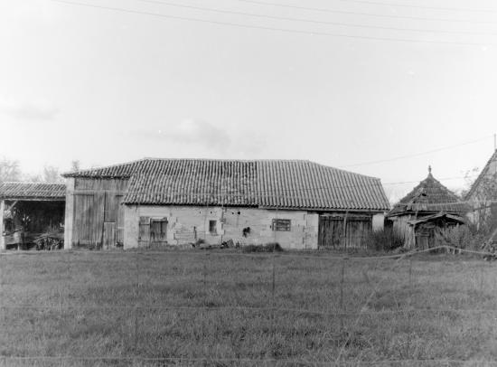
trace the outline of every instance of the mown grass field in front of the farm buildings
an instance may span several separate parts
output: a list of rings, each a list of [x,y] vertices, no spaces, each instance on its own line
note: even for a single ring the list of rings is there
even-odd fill
[[[9,253],[0,356],[5,366],[497,360],[497,264],[332,255]]]

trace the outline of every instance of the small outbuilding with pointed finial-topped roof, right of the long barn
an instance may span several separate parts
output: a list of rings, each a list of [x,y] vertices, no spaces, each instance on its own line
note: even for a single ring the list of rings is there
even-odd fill
[[[431,173],[387,215],[393,230],[404,239],[404,247],[428,249],[444,239],[447,230],[464,224],[467,208]]]

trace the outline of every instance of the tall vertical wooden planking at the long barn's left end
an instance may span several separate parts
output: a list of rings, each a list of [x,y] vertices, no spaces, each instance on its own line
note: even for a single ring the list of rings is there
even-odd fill
[[[76,178],[72,243],[76,247],[112,248],[122,245],[126,179]]]

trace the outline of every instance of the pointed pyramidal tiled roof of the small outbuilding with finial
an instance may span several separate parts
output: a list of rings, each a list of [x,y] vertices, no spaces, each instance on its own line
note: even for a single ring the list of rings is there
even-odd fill
[[[465,212],[464,203],[459,197],[428,174],[410,193],[400,200],[389,212],[389,216],[409,212]]]

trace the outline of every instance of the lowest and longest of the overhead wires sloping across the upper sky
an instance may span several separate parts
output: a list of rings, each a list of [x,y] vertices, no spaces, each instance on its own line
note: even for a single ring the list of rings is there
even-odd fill
[[[199,23],[203,23],[203,24],[226,25],[226,26],[232,26],[232,27],[238,27],[238,28],[260,29],[260,30],[265,30],[265,31],[277,31],[277,32],[283,32],[283,33],[298,33],[298,34],[330,36],[330,37],[337,37],[337,38],[349,38],[349,39],[370,40],[370,41],[452,44],[452,45],[457,45],[457,46],[497,46],[497,43],[417,40],[417,39],[409,39],[409,38],[375,37],[375,36],[355,35],[355,34],[347,34],[347,33],[326,33],[326,32],[302,31],[302,30],[296,30],[296,29],[290,29],[290,28],[277,28],[277,27],[268,27],[268,26],[259,26],[259,25],[219,22],[219,21],[211,21],[211,20],[201,19],[201,18],[192,18],[192,17],[188,17],[188,16],[158,14],[158,13],[153,13],[153,12],[143,12],[143,11],[139,11],[139,10],[131,10],[131,9],[125,9],[125,8],[113,7],[113,6],[92,5],[92,4],[88,4],[88,3],[80,3],[80,2],[75,2],[75,1],[66,1],[66,0],[49,0],[49,1],[52,1],[54,3],[66,4],[66,5],[77,5],[77,6],[92,7],[92,8],[97,8],[97,9],[111,10],[111,11],[115,11],[115,12],[119,12],[119,13],[141,14],[141,15],[155,16],[155,17],[159,17],[159,18],[188,21],[188,22],[199,22]]]

